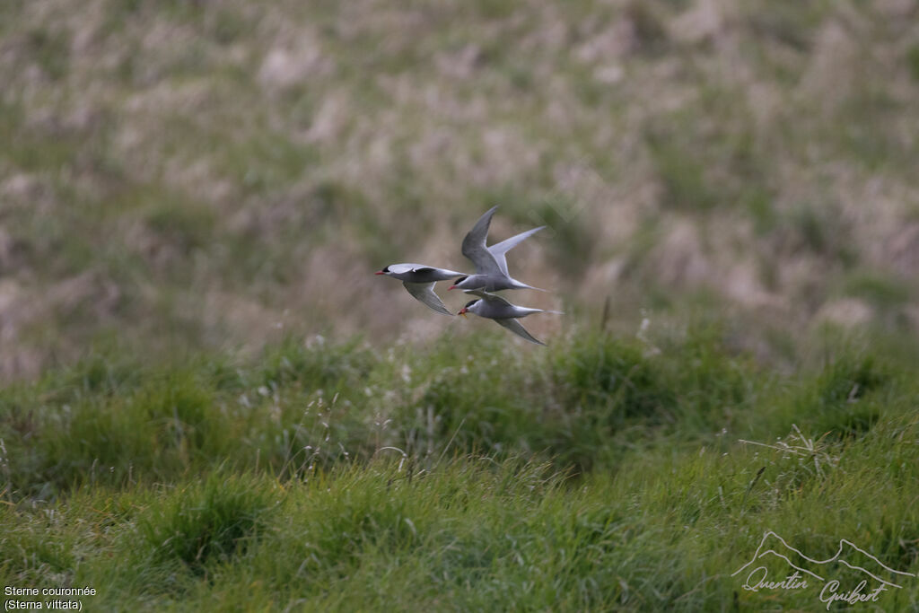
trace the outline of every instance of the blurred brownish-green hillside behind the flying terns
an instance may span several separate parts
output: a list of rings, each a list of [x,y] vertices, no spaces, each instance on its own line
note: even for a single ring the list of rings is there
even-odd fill
[[[506,334],[372,274],[495,204],[537,335],[919,331],[915,0],[4,0],[0,83],[0,379]]]

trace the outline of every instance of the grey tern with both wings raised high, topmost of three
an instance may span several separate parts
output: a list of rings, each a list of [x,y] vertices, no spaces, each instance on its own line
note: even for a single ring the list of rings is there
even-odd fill
[[[475,265],[475,274],[458,278],[449,289],[482,289],[499,291],[501,289],[539,289],[512,278],[507,272],[507,252],[520,244],[524,239],[538,233],[546,226],[539,226],[524,233],[519,233],[505,241],[487,246],[488,227],[497,207],[487,210],[479,221],[475,222],[469,233],[462,240],[462,255],[468,257]],[[545,291],[545,289],[539,289]]]

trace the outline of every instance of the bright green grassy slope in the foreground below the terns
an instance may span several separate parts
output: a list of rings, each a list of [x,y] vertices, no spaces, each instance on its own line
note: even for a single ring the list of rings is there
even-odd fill
[[[650,335],[486,337],[503,369],[461,339],[97,358],[7,389],[3,581],[156,610],[813,608],[729,576],[766,529],[919,571],[914,355],[824,339],[791,376],[723,330]],[[777,437],[800,455],[739,442]]]

